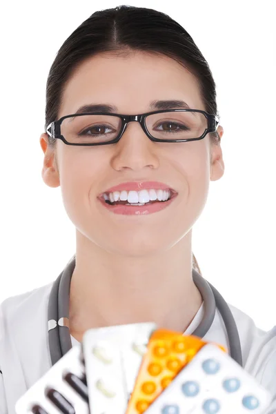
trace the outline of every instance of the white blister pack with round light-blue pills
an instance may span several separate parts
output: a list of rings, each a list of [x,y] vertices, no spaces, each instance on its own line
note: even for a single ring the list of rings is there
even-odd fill
[[[207,344],[145,414],[264,414],[272,396],[217,346]]]

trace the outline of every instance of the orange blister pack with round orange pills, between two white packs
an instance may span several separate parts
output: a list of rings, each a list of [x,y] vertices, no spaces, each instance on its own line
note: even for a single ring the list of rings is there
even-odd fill
[[[152,333],[126,414],[141,414],[206,345],[193,335],[159,329]],[[219,345],[218,345],[219,346]],[[219,346],[223,351],[224,347]]]

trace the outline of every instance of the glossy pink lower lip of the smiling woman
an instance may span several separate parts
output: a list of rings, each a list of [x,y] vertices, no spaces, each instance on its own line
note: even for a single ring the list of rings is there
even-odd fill
[[[164,210],[164,208],[170,206],[172,201],[177,195],[172,195],[168,201],[160,201],[154,204],[145,204],[144,206],[125,206],[124,204],[117,204],[115,206],[110,206],[107,204],[104,199],[99,199],[101,204],[106,207],[108,210],[112,211],[115,214],[123,215],[146,215],[151,213],[156,213],[157,211]]]

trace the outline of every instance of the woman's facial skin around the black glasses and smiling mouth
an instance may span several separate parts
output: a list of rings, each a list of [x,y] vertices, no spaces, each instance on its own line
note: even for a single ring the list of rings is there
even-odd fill
[[[58,116],[93,103],[111,104],[119,114],[136,115],[150,112],[153,100],[170,99],[204,110],[196,78],[173,59],[143,52],[128,57],[104,53],[73,72]],[[223,133],[220,126],[218,132]],[[41,142],[45,139],[42,134]],[[50,159],[50,148],[47,151]],[[57,139],[55,156],[57,164],[44,161],[44,181],[61,186],[68,216],[88,242],[116,255],[159,254],[177,244],[201,214],[210,179],[224,173],[221,148],[210,143],[209,135],[199,141],[156,143],[138,122],[128,124],[117,144],[68,146]],[[177,196],[156,213],[112,213],[98,197],[127,181],[161,181]]]

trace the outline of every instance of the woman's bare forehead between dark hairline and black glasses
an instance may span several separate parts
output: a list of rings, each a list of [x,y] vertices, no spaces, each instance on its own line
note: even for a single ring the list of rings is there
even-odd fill
[[[83,104],[111,103],[119,113],[147,112],[150,101],[182,99],[204,110],[196,77],[164,55],[105,52],[87,58],[72,72],[63,90],[58,117],[75,113]]]

